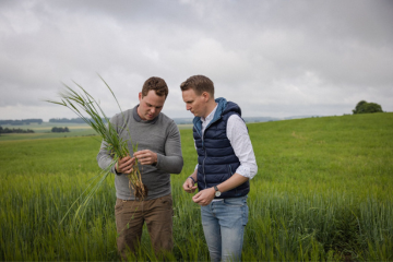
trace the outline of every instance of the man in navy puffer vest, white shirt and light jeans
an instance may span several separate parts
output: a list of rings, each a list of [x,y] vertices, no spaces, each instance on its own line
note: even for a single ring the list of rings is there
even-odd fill
[[[194,172],[183,183],[201,205],[202,225],[212,261],[239,261],[248,222],[247,194],[258,166],[238,105],[214,99],[214,84],[204,75],[180,85],[193,119],[198,153]]]

